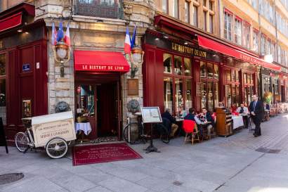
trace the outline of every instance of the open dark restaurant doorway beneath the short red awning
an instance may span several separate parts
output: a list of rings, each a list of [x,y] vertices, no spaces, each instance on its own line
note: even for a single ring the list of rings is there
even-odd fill
[[[119,75],[81,76],[77,75],[75,82],[75,111],[77,117],[86,116],[91,125],[89,139],[116,136],[119,140],[122,117]]]

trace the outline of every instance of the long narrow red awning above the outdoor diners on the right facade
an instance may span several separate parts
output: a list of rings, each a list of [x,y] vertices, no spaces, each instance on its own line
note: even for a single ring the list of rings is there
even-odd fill
[[[276,70],[276,71],[281,70],[281,67],[278,65],[275,65],[273,63],[267,63],[264,60],[262,60],[261,58],[256,58],[254,56],[250,56],[247,53],[233,49],[232,47],[225,46],[224,44],[220,44],[216,41],[213,41],[211,39],[207,39],[207,38],[199,36],[199,35],[198,35],[198,44],[199,44],[199,46],[202,46],[204,48],[211,49],[213,51],[217,51],[217,52],[223,53],[225,55],[232,56],[234,58],[247,61],[249,63],[261,65],[264,68],[269,68],[271,70]]]

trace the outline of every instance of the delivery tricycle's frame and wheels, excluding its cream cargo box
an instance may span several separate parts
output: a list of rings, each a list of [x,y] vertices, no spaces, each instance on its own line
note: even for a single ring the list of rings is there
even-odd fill
[[[18,132],[15,135],[15,146],[18,151],[26,153],[29,149],[36,149],[36,146],[34,143],[34,136],[32,134],[33,131],[31,127],[31,118],[23,118],[22,120],[23,122],[26,121],[24,123],[26,125],[26,131]],[[60,137],[54,137],[46,143],[46,146],[44,146],[44,148],[46,149],[46,153],[50,158],[58,159],[63,158],[63,156],[66,155],[68,144],[65,139],[62,139]]]

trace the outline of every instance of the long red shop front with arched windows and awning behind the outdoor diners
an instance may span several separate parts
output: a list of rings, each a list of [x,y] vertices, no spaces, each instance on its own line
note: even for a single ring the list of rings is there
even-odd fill
[[[259,92],[259,69],[280,70],[165,15],[155,16],[155,26],[157,30],[147,30],[143,39],[144,105],[159,105],[162,112],[171,108],[178,115],[191,107],[213,111],[219,102],[227,108],[249,105]]]

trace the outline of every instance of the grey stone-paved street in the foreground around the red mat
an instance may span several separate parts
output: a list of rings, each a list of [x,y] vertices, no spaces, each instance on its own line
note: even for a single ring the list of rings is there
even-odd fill
[[[242,129],[194,146],[183,145],[183,137],[169,144],[155,141],[161,153],[145,154],[147,145],[131,146],[143,159],[77,167],[70,155],[51,160],[44,151],[22,154],[12,147],[6,155],[0,147],[0,174],[25,174],[20,181],[0,185],[0,191],[288,191],[287,124],[288,115],[278,115],[261,124],[257,138]],[[262,153],[259,148],[274,151]]]

